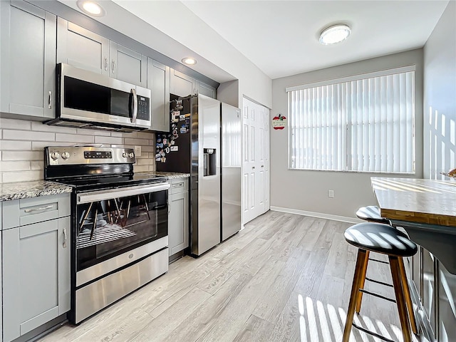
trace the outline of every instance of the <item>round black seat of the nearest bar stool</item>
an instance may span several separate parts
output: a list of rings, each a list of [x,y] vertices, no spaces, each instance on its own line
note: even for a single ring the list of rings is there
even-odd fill
[[[406,234],[388,224],[358,223],[346,229],[343,236],[349,244],[358,248],[397,257],[411,257],[418,250]]]

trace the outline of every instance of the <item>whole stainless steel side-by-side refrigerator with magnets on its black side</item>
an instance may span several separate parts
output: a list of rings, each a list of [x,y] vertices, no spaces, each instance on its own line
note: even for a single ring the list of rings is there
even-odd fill
[[[190,253],[241,229],[241,112],[205,95],[175,98],[170,133],[157,133],[157,171],[190,173]]]

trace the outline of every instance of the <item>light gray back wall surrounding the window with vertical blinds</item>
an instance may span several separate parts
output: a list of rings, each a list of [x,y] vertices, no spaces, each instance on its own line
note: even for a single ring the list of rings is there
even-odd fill
[[[423,177],[423,137],[421,135],[423,131],[423,49],[275,79],[272,81],[271,117],[278,113],[288,116],[286,87],[413,64],[416,65],[415,130],[417,133],[415,141],[417,172],[413,177],[421,178]],[[355,217],[358,207],[376,204],[371,190],[371,176],[383,176],[383,174],[288,170],[288,128],[271,129],[271,207]],[[334,190],[334,198],[328,197],[328,190]]]

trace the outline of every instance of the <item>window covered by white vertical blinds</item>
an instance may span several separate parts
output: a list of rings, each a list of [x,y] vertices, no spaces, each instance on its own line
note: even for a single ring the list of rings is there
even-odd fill
[[[289,167],[415,172],[415,67],[286,88]]]

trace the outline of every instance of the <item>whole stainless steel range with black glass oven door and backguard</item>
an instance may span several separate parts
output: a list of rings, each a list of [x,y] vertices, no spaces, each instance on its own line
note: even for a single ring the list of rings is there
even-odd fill
[[[133,149],[45,147],[45,180],[73,186],[71,311],[78,324],[168,269],[167,177],[133,174]]]

